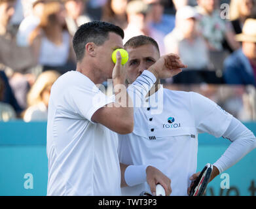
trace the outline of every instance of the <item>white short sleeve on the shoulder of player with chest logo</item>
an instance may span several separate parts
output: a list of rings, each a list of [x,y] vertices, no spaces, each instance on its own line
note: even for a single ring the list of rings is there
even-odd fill
[[[232,115],[198,93],[191,92],[191,109],[198,133],[221,137],[232,120]]]

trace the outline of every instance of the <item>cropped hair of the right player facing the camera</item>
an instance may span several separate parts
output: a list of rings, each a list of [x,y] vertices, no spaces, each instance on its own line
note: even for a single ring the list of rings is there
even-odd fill
[[[132,37],[131,39],[127,40],[127,42],[124,44],[124,48],[125,49],[127,49],[129,47],[137,48],[139,46],[143,46],[146,44],[152,44],[153,46],[155,46],[156,50],[158,50],[158,52],[160,54],[159,46],[158,46],[156,40],[151,37],[147,37],[145,35],[139,35],[137,37]]]

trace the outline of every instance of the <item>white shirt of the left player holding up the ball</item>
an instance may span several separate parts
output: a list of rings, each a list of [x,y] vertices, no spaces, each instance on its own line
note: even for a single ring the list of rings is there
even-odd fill
[[[54,83],[48,105],[47,195],[120,195],[117,133],[91,121],[96,110],[112,102],[81,72],[69,71]]]

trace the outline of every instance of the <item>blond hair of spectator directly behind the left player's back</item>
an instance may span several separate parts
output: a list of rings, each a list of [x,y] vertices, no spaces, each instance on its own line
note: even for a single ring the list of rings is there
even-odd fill
[[[56,71],[42,72],[27,94],[27,105],[33,106],[41,103],[43,91],[51,88],[52,84],[54,84],[59,76],[60,74]]]

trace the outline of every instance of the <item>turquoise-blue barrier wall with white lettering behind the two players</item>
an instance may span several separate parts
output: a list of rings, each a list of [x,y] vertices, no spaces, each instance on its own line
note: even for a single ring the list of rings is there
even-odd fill
[[[256,133],[256,123],[244,123]],[[229,140],[199,135],[198,170],[214,163],[229,146]],[[46,195],[46,122],[0,122],[0,195]],[[256,195],[256,150],[225,171],[230,188],[221,189],[227,175],[217,176],[206,195]],[[227,185],[226,183],[224,185]]]

